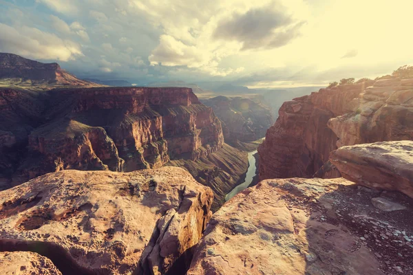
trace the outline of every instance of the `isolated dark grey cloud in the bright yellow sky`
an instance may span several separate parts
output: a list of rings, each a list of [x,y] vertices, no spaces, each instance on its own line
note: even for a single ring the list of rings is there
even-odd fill
[[[275,6],[276,8],[273,8]],[[282,5],[271,3],[251,8],[244,14],[233,14],[220,21],[213,32],[215,39],[239,41],[242,50],[282,47],[300,34],[304,21],[297,21]]]

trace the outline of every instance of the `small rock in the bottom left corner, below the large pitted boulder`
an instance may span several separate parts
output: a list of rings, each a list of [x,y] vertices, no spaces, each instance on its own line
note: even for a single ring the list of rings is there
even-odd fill
[[[52,261],[33,252],[0,252],[3,275],[62,275]]]

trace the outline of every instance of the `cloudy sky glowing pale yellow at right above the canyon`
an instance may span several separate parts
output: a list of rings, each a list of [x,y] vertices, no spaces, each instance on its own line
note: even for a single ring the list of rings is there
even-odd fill
[[[0,0],[0,52],[81,78],[326,85],[413,64],[412,0]]]

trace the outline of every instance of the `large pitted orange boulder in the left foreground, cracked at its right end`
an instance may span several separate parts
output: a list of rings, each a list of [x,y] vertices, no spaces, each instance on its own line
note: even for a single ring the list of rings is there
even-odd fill
[[[63,274],[165,274],[212,199],[182,168],[50,173],[0,192],[0,250],[38,252]]]

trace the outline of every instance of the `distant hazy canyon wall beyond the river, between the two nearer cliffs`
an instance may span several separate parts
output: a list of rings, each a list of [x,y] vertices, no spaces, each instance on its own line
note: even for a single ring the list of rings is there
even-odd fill
[[[253,142],[265,136],[273,124],[271,109],[248,98],[217,96],[202,103],[211,107],[222,122],[225,142]]]

